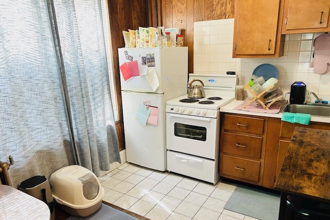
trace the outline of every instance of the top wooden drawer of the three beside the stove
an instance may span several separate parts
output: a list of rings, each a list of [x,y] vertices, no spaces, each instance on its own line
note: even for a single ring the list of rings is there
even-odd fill
[[[223,117],[223,128],[225,130],[262,134],[263,121],[263,118],[243,117],[225,114]]]

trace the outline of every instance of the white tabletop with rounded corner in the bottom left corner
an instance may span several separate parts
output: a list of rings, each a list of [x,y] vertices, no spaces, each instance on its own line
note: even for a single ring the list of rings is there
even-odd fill
[[[9,185],[0,184],[0,219],[49,220],[48,206]]]

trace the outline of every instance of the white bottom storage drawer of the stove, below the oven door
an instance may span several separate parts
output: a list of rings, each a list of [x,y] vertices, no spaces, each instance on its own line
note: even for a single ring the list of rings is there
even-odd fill
[[[215,184],[219,180],[215,160],[167,150],[167,170]]]

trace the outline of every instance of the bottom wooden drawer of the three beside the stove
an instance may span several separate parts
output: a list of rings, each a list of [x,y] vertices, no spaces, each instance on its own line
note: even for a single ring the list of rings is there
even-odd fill
[[[229,155],[223,155],[222,160],[222,174],[259,181],[259,161]]]

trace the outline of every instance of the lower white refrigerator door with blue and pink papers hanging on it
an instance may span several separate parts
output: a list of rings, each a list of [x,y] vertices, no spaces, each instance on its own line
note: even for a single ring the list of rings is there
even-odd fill
[[[163,94],[122,91],[126,160],[144,167],[166,170],[165,115]],[[138,105],[149,101],[158,107],[157,125],[142,125],[136,119]]]

